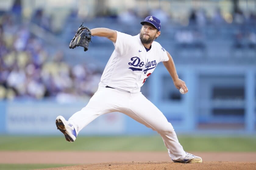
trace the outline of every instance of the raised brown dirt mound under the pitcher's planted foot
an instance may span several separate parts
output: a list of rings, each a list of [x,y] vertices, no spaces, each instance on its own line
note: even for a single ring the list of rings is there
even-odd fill
[[[145,169],[145,170],[164,170],[164,169],[175,169],[175,170],[216,170],[216,169],[255,169],[256,163],[252,162],[203,162],[203,163],[172,163],[172,162],[111,162],[111,163],[99,163],[99,164],[88,164],[88,165],[75,165],[59,168],[47,168],[44,170],[130,170],[130,169]]]

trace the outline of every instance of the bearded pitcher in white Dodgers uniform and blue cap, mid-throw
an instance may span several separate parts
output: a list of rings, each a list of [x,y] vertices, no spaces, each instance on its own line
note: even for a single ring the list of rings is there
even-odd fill
[[[65,135],[67,141],[73,142],[77,134],[98,116],[110,112],[121,112],[157,131],[172,161],[202,162],[202,158],[183,150],[172,124],[140,92],[140,87],[160,62],[163,62],[170,73],[175,87],[183,94],[188,92],[185,82],[177,75],[171,55],[154,41],[161,34],[160,20],[155,16],[148,16],[140,23],[142,27],[136,36],[108,28],[90,30],[82,25],[79,27],[69,48],[82,46],[84,51],[87,51],[91,36],[101,36],[112,41],[115,49],[102,74],[98,90],[88,104],[73,114],[68,121],[58,116],[56,126]]]

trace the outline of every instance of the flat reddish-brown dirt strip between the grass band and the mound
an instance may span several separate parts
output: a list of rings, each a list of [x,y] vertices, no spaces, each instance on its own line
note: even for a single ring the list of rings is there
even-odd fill
[[[203,162],[256,162],[256,152],[191,152]],[[169,162],[167,152],[0,151],[2,164],[100,164],[106,162]]]

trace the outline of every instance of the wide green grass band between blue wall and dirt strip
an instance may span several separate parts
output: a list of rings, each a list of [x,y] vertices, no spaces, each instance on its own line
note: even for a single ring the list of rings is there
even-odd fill
[[[0,151],[167,151],[160,136],[0,136]],[[255,152],[255,137],[178,136],[186,151]]]

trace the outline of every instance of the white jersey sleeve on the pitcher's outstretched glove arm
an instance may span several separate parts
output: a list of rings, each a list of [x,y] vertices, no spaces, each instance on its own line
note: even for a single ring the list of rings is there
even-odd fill
[[[125,54],[128,53],[128,51],[132,46],[132,36],[122,32],[118,32],[118,31],[116,32],[117,32],[116,43],[113,42],[113,44],[119,56],[124,56]]]

